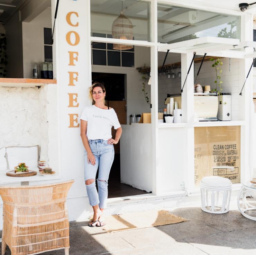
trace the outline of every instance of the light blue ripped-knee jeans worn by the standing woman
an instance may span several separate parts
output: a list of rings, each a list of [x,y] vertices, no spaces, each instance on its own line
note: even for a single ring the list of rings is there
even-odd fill
[[[93,166],[88,163],[87,152],[84,155],[84,177],[85,181],[94,179],[92,184],[86,185],[87,195],[91,206],[99,205],[100,208],[107,207],[108,198],[108,177],[110,168],[114,160],[114,146],[108,144],[106,140],[89,140],[92,154],[96,163]],[[96,189],[95,178],[99,167],[99,176],[97,179],[98,191]]]

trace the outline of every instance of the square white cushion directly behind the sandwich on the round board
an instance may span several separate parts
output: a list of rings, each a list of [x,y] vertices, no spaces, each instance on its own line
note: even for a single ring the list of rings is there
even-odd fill
[[[19,163],[26,163],[29,169],[38,167],[38,146],[31,147],[7,147],[7,163],[10,170]]]

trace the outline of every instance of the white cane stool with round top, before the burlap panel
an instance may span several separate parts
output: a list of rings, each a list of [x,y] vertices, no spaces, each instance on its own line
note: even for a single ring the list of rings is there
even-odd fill
[[[227,213],[229,210],[231,189],[232,183],[227,178],[219,176],[203,177],[201,182],[201,209],[207,213]]]

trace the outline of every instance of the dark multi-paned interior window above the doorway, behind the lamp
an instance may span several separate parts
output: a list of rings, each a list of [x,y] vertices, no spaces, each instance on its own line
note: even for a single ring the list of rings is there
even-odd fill
[[[108,37],[102,33],[92,33],[95,37]],[[92,42],[92,65],[134,67],[134,48],[115,50],[112,43]]]

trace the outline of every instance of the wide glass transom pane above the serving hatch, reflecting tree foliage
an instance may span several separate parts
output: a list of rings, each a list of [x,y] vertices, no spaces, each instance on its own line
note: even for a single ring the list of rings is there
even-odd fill
[[[205,36],[240,39],[240,17],[158,3],[157,33],[163,43]]]

